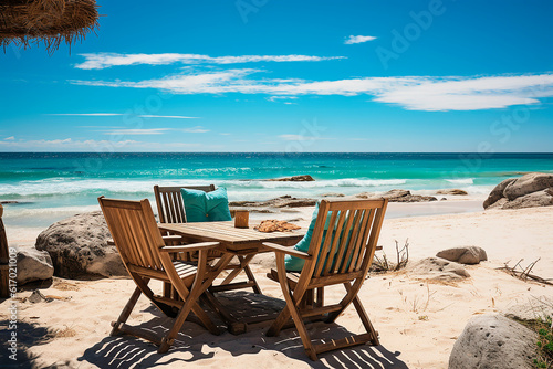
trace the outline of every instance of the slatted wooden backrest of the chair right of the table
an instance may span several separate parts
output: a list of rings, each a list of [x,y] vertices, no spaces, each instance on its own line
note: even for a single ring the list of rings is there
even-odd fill
[[[326,201],[319,208],[304,266],[312,277],[366,273],[373,260],[387,200]],[[309,272],[307,272],[309,273]]]

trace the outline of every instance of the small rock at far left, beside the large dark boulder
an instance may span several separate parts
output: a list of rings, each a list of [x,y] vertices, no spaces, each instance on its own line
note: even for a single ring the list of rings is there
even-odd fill
[[[54,275],[52,259],[45,251],[34,247],[18,250],[18,285],[29,282],[50,280]]]

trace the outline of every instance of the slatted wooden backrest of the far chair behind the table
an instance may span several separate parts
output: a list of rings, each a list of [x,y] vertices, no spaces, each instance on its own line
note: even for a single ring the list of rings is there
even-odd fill
[[[154,186],[154,194],[156,197],[160,223],[186,223],[185,204],[180,193],[180,190],[184,188],[205,192],[215,191],[215,184],[186,187]]]

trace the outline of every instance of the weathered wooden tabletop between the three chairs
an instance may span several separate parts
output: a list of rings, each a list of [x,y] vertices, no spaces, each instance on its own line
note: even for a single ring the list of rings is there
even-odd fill
[[[161,231],[196,240],[198,242],[221,242],[228,250],[240,251],[260,247],[262,242],[274,242],[285,246],[294,245],[305,234],[305,230],[263,233],[253,225],[248,229],[234,228],[234,222],[159,223]]]

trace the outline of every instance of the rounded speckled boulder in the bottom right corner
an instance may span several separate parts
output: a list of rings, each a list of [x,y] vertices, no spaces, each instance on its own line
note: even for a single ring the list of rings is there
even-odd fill
[[[455,342],[449,369],[533,368],[536,337],[503,316],[476,316]]]

